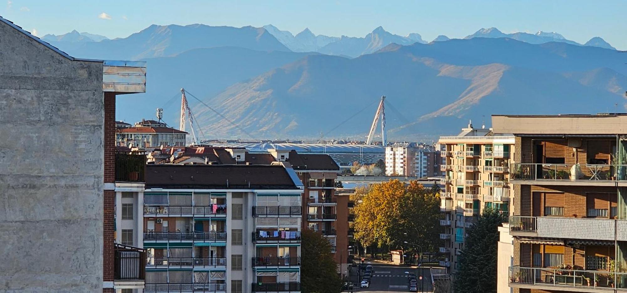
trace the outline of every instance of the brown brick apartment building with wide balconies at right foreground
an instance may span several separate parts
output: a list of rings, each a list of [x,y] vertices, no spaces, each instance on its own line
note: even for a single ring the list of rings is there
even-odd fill
[[[492,125],[515,135],[509,286],[627,292],[627,115],[495,115]]]

